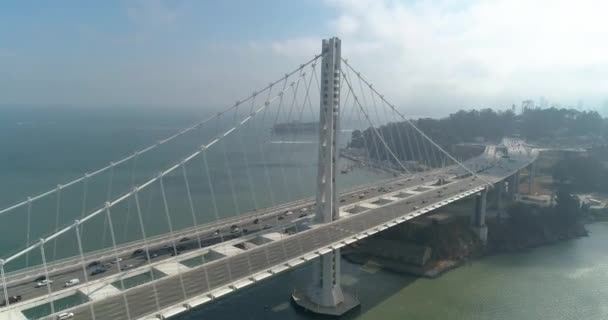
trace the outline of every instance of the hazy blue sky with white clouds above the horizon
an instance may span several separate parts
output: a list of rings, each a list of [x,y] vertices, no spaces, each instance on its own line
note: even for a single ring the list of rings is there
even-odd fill
[[[604,0],[3,1],[0,108],[218,108],[338,36],[406,114],[527,99],[608,114],[606,12]]]

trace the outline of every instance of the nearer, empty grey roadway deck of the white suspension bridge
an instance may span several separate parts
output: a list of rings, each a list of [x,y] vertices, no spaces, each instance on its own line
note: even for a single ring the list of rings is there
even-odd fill
[[[77,319],[94,319],[91,314],[92,307],[97,318],[103,314],[104,318],[108,319],[137,319],[155,312],[171,312],[168,308],[176,305],[178,309],[186,309],[317,257],[331,250],[332,245],[339,247],[352,243],[367,234],[468,196],[480,190],[486,179],[493,182],[502,180],[510,175],[514,168],[527,165],[528,161],[530,159],[517,161],[510,167],[492,167],[484,174],[484,179],[469,178],[450,183],[445,186],[446,189],[440,197],[432,192],[433,188],[426,188],[427,191],[418,193],[411,191],[412,185],[419,183],[417,181],[412,181],[411,184],[398,182],[400,187],[396,187],[394,192],[381,195],[388,199],[386,202],[377,202],[376,198],[367,197],[361,201],[363,205],[359,205],[363,208],[360,212],[347,214],[331,224],[314,226],[310,230],[243,250],[233,256],[185,268],[179,275],[169,275],[125,290],[124,294],[81,305],[74,308],[73,312]],[[428,183],[428,179],[426,182]],[[406,189],[410,190],[407,194],[411,196],[404,201],[402,194]],[[369,205],[374,201],[373,205]],[[415,207],[425,208],[414,209]],[[275,211],[272,212],[276,214]],[[179,307],[185,301],[188,301],[186,307]],[[9,308],[14,309],[15,306]],[[8,314],[0,312],[0,319]]]

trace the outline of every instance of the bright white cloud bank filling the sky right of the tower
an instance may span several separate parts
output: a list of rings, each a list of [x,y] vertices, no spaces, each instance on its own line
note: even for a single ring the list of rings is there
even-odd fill
[[[328,27],[342,38],[343,56],[408,107],[432,106],[443,114],[540,96],[562,104],[605,100],[608,2],[327,0],[326,5],[338,12]],[[318,50],[318,38],[304,39],[307,50]],[[289,54],[302,40],[275,43],[273,49]]]

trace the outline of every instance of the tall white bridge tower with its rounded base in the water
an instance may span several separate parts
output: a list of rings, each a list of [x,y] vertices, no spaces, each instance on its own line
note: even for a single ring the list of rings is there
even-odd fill
[[[319,166],[315,222],[338,219],[336,198],[336,161],[340,115],[340,39],[322,43],[321,103],[319,120]],[[357,307],[359,301],[340,286],[340,249],[322,255],[313,265],[313,279],[304,292],[292,296],[300,307],[325,315],[342,315]]]

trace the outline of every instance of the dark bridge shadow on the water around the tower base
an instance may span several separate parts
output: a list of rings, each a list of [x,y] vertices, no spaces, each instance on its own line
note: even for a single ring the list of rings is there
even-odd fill
[[[361,306],[340,319],[357,319],[361,314],[381,304],[417,279],[384,272],[374,267],[362,267],[345,260],[342,260],[342,271],[343,289],[356,295]],[[291,302],[290,297],[293,290],[306,288],[311,277],[311,265],[306,264],[193,309],[175,319],[336,319],[304,311]]]

